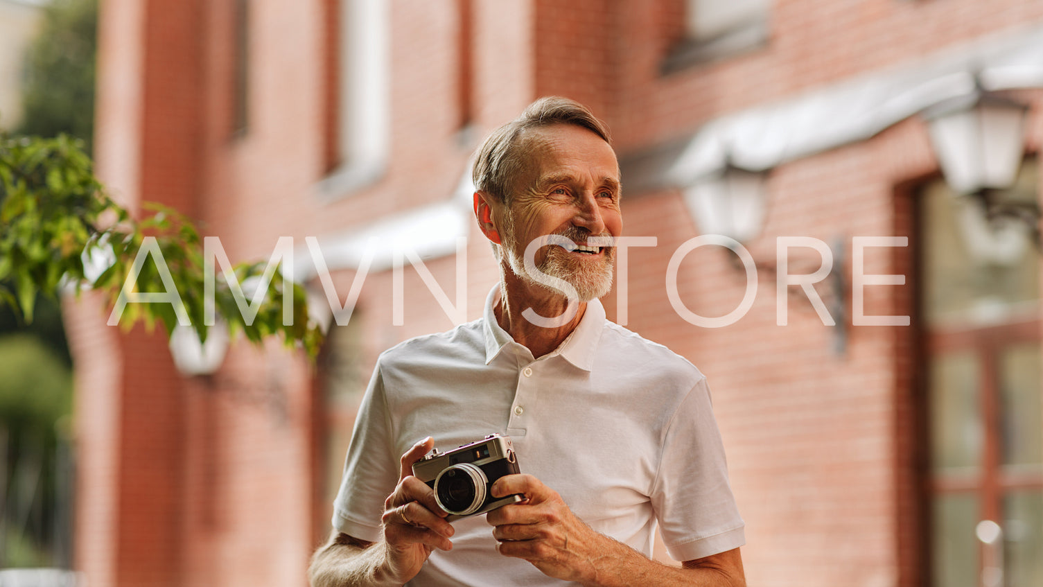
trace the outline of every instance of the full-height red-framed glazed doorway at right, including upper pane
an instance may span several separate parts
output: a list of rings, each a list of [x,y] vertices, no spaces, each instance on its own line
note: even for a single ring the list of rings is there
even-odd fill
[[[1035,201],[1037,174],[1027,163],[992,196]],[[1040,254],[1025,234],[975,217],[973,201],[941,180],[919,198],[925,570],[936,587],[1043,585]],[[979,532],[985,520],[997,539]]]

